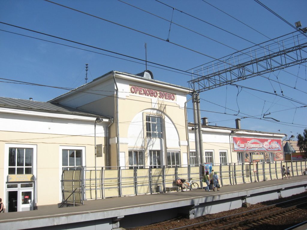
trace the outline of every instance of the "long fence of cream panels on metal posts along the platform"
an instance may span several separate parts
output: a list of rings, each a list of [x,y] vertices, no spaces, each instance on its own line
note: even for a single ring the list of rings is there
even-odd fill
[[[306,161],[274,161],[253,163],[213,164],[221,186],[280,179],[282,165],[290,168],[291,176],[304,174]],[[176,178],[193,178],[199,188],[206,183],[203,165],[139,166],[139,167],[83,167],[84,200],[155,194],[174,186]],[[96,193],[97,191],[97,193]],[[169,190],[171,191],[171,190]],[[176,189],[174,191],[177,191]]]

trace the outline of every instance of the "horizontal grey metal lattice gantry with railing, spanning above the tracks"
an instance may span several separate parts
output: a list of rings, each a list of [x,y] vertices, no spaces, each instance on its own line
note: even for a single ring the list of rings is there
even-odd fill
[[[203,92],[307,61],[307,36],[296,31],[195,67],[189,87]]]

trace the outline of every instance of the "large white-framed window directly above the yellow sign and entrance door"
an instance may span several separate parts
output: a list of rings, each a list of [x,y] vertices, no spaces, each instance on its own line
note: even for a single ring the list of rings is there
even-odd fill
[[[9,174],[33,174],[32,166],[32,148],[9,148]]]

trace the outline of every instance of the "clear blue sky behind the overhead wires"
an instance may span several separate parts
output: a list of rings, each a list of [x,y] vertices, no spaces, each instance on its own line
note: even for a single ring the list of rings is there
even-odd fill
[[[123,0],[123,2],[166,20],[172,19],[173,23],[171,26],[169,21],[118,0],[54,0],[54,2],[142,31],[143,33],[138,33],[43,0],[1,0],[0,21],[139,59],[145,59],[144,43],[146,43],[148,61],[180,70],[188,70],[212,61],[213,59],[208,56],[218,59],[235,52],[234,49],[241,50],[251,47],[253,45],[251,42],[256,44],[262,43],[269,40],[267,37],[272,39],[294,31],[284,21],[252,0],[206,0],[206,2],[244,22],[265,36],[202,0],[161,0],[161,2],[174,7],[176,10],[154,0]],[[307,26],[307,1],[262,0],[260,2],[291,24],[294,25],[296,21],[301,21],[303,27]],[[241,36],[246,40],[217,29],[187,14],[216,25],[237,36]],[[201,35],[183,29],[174,23]],[[124,58],[95,48],[73,44],[9,25],[0,24],[0,29],[93,51],[84,51],[0,31],[0,75],[2,79],[47,86],[76,88],[85,83],[85,63],[89,64],[87,82],[111,70],[131,74],[137,74],[145,70],[145,63],[142,61],[135,63],[106,56],[112,55]],[[234,49],[209,40],[204,36]],[[167,42],[168,38],[172,43],[205,55]],[[306,56],[306,52],[304,55]],[[147,69],[153,72],[154,79],[160,81],[188,87],[187,81],[191,80],[191,75],[179,74],[151,66],[148,66]],[[273,119],[243,118],[241,120],[241,128],[285,133],[287,135],[293,134],[295,136],[297,136],[297,133],[303,133],[304,128],[307,127],[306,107],[298,107],[307,104],[306,66],[305,64],[296,65],[286,70],[290,74],[284,71],[275,71],[265,75],[270,76],[271,79],[276,81],[278,78],[278,81],[282,84],[269,82],[267,79],[258,76],[240,81],[238,84],[270,93],[276,90],[278,94],[281,94],[281,91],[283,91],[285,96],[301,103],[292,102],[276,95],[259,91],[241,90],[240,88],[238,91],[235,86],[223,86],[200,94],[200,108],[203,110],[201,116],[208,117],[210,125],[235,127],[236,118],[250,116],[262,118],[264,113],[271,113],[267,117],[273,117],[281,122],[275,122]],[[31,97],[36,101],[48,101],[66,91],[52,87],[15,84],[9,80],[1,80],[0,82],[1,97],[21,99],[29,99]],[[190,96],[188,95],[187,98],[190,98]],[[192,108],[192,104],[189,103],[188,107]],[[188,121],[192,122],[192,110],[188,111]],[[238,114],[238,112],[240,113]],[[234,116],[233,114],[238,115]]]

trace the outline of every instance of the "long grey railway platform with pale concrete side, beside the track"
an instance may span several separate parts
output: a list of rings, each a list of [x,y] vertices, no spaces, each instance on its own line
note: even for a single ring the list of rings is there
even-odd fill
[[[58,208],[38,206],[37,210],[1,213],[0,229],[116,229],[152,224],[180,215],[189,218],[235,209],[247,202],[288,197],[305,192],[307,176],[221,186],[220,191],[204,189],[151,195],[112,197],[84,201],[84,205]]]

